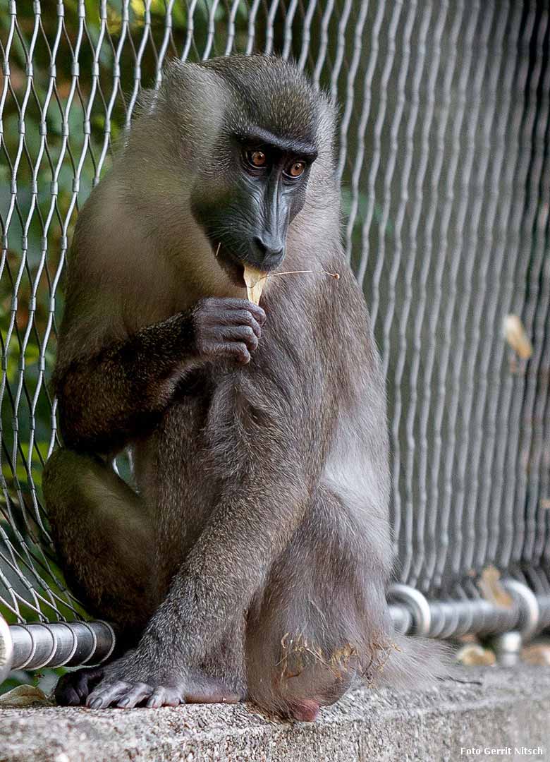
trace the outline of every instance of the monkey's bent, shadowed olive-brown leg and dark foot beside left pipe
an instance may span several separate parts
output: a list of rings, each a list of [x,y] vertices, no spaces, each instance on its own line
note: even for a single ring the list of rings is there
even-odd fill
[[[43,489],[66,581],[86,610],[109,621],[121,647],[133,645],[155,610],[155,530],[144,502],[101,459],[57,450]],[[118,649],[117,649],[118,650]],[[59,681],[60,703],[80,703],[102,668]]]

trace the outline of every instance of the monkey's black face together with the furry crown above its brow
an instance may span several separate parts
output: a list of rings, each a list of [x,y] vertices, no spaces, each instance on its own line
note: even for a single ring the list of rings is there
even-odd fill
[[[232,100],[197,174],[191,210],[220,266],[242,285],[245,264],[269,272],[283,261],[289,224],[304,206],[317,157],[318,96],[283,62],[267,84],[264,71],[258,76],[265,65],[259,56],[209,65]]]

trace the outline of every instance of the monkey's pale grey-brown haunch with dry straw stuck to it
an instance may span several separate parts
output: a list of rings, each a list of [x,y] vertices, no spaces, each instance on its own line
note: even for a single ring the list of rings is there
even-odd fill
[[[318,488],[249,610],[248,698],[269,711],[312,721],[378,659],[382,578],[365,570],[354,535],[339,498]]]

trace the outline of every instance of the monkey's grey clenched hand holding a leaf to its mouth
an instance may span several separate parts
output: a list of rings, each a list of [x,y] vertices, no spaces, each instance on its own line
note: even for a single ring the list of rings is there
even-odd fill
[[[266,315],[248,299],[209,297],[193,309],[195,344],[200,357],[249,363],[261,338]]]

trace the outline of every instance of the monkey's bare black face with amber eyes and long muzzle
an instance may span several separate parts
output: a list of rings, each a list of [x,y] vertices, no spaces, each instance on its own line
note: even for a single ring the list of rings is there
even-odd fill
[[[305,203],[309,142],[259,127],[220,136],[212,165],[197,178],[191,210],[219,264],[236,285],[245,265],[269,272],[283,261],[289,223]]]

